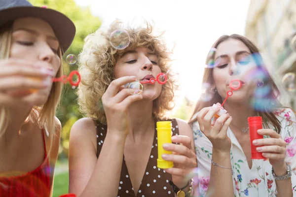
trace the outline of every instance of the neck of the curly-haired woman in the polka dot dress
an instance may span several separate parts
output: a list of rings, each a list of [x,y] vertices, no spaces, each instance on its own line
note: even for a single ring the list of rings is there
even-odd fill
[[[140,100],[132,103],[128,109],[129,133],[132,140],[143,140],[153,131],[154,119],[152,116],[153,101]],[[140,109],[140,110],[139,110]]]

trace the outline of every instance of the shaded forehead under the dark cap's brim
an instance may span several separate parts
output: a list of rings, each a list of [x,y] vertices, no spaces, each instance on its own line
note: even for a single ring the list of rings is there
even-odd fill
[[[44,20],[34,17],[18,18],[13,22],[12,31],[17,29],[26,28],[35,30],[38,33],[55,36],[51,26]]]

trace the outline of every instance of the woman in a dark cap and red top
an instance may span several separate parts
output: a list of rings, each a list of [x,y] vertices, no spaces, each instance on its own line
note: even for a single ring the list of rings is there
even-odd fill
[[[58,21],[58,23],[57,23]],[[0,2],[0,196],[49,197],[61,124],[62,54],[75,34],[60,12]]]

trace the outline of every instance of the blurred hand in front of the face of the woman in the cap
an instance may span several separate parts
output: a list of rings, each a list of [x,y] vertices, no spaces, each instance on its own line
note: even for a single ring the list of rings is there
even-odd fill
[[[55,76],[46,62],[9,59],[0,61],[0,105],[10,106],[26,101],[34,91],[47,88]],[[34,104],[34,103],[27,103]]]

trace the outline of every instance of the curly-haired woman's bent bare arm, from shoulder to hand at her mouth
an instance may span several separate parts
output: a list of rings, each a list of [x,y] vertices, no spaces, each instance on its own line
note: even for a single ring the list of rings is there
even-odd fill
[[[73,125],[69,147],[71,193],[81,197],[117,196],[128,134],[127,109],[132,102],[143,99],[142,95],[131,95],[128,89],[120,90],[120,87],[135,80],[133,76],[115,79],[102,96],[108,131],[99,158],[94,122],[84,118]]]

